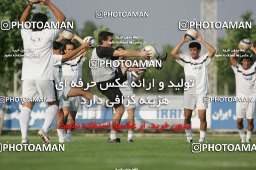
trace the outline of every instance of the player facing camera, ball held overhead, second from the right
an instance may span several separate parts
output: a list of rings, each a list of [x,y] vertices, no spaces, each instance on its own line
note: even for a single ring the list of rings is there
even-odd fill
[[[192,111],[197,108],[200,118],[200,139],[199,142],[205,142],[206,136],[206,109],[208,104],[203,102],[203,97],[209,92],[209,82],[207,76],[207,65],[213,60],[215,49],[202,39],[200,33],[197,33],[197,40],[201,42],[209,51],[200,56],[201,44],[198,42],[189,43],[190,55],[184,55],[178,53],[180,47],[187,41],[189,41],[184,34],[182,40],[173,48],[172,55],[176,58],[176,61],[184,67],[184,73],[186,81],[194,80],[194,87],[184,91],[183,107],[185,119],[184,123],[191,125]],[[192,142],[192,127],[185,129],[187,140],[186,142]]]

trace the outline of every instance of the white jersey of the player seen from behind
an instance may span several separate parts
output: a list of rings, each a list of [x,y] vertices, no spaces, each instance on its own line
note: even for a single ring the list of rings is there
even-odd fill
[[[53,73],[53,40],[60,29],[21,29],[25,49],[22,80],[54,80]],[[36,56],[35,56],[36,55]]]

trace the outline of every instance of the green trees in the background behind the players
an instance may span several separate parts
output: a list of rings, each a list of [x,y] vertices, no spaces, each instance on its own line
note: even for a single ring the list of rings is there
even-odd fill
[[[0,19],[1,20],[19,20],[22,12],[26,8],[25,0],[3,0],[3,3],[0,3]],[[32,10],[33,11],[33,10]],[[49,17],[48,8],[46,6],[40,6],[40,12],[46,13]],[[30,15],[29,19],[31,19]],[[221,38],[218,40],[218,51],[216,53],[223,53],[222,49],[236,49],[238,42],[243,38],[249,38],[252,42],[254,42],[254,46],[256,45],[256,25],[254,24],[254,20],[251,18],[252,12],[245,11],[241,15],[242,21],[252,21],[252,28],[251,29],[225,29],[227,33],[226,37]],[[93,21],[85,21],[83,24],[82,29],[77,28],[76,20],[73,18],[68,19],[68,21],[74,22],[74,29],[73,31],[79,35],[81,38],[85,36],[93,36],[96,41],[98,41],[98,32],[101,30],[111,31],[111,28],[108,28],[105,25],[97,26]],[[136,34],[136,30],[134,31]],[[115,35],[122,35],[122,32],[113,32],[114,37]],[[115,40],[115,39],[114,39]],[[138,40],[138,39],[135,39]],[[140,37],[140,40],[144,40]],[[75,42],[77,46],[80,44]],[[178,42],[172,42],[173,44],[177,44]],[[7,96],[9,92],[13,91],[13,74],[15,71],[22,69],[22,58],[14,58],[8,57],[4,58],[5,53],[12,53],[12,49],[22,49],[23,48],[23,41],[21,37],[20,29],[11,29],[11,30],[0,30],[0,65],[2,69],[0,69],[0,93],[3,96]],[[113,44],[113,47],[116,47],[122,44]],[[132,49],[132,50],[141,50],[146,45],[154,45],[153,40],[152,43],[142,44],[125,44],[123,45],[125,49]],[[178,83],[181,81],[181,78],[184,78],[184,70],[181,65],[179,65],[173,56],[171,56],[171,50],[174,46],[170,44],[166,44],[162,47],[162,49],[158,49],[160,54],[163,52],[168,52],[168,58],[164,64],[162,70],[157,70],[156,68],[150,67],[146,72],[145,84],[146,88],[148,87],[147,84],[152,82],[152,78],[155,79],[155,87],[151,88],[150,90],[146,90],[145,88],[138,88],[135,89],[135,92],[138,93],[169,93],[169,94],[179,94],[183,93],[182,90],[175,90],[174,88],[168,88],[168,82],[171,80],[174,83]],[[248,51],[250,52],[250,51]],[[92,81],[91,70],[89,68],[89,59],[91,57],[92,50],[88,51],[87,60],[84,62],[83,65],[83,82],[84,84],[87,82]],[[255,59],[253,58],[253,61]],[[238,61],[239,62],[239,61]],[[212,64],[212,63],[211,63]],[[230,66],[229,58],[227,57],[218,57],[214,59],[213,64],[217,65],[217,73],[218,73],[218,94],[224,95],[224,89],[227,89],[227,93],[225,95],[234,95],[235,94],[235,77]],[[158,82],[163,81],[165,84],[165,88],[163,90],[158,90]],[[89,89],[92,92],[96,92],[100,94],[96,87]]]

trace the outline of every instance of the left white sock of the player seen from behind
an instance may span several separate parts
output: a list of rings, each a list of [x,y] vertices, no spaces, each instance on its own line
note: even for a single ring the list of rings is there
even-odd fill
[[[19,121],[20,121],[20,126],[21,126],[22,138],[28,137],[28,126],[29,126],[29,119],[30,119],[31,111],[32,110],[28,107],[22,107],[22,109],[21,109]]]

